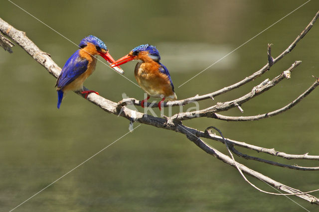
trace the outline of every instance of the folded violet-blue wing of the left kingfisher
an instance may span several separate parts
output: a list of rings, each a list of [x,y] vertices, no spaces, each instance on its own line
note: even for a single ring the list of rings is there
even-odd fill
[[[63,66],[56,82],[58,88],[63,89],[87,70],[89,61],[80,57],[79,51],[80,50],[77,50]]]

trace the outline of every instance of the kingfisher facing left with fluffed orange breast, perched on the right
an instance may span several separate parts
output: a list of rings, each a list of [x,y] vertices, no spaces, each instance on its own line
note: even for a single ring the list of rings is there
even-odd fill
[[[112,63],[111,67],[117,67],[131,60],[141,60],[135,66],[134,75],[138,84],[148,95],[145,100],[142,100],[142,107],[150,97],[162,98],[159,102],[160,109],[165,99],[177,99],[169,72],[160,63],[160,53],[155,46],[145,44],[135,47],[128,55]]]

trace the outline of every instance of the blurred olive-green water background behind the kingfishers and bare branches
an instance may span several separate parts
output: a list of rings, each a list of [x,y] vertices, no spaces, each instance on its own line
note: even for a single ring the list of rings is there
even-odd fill
[[[202,95],[231,85],[267,63],[267,44],[277,56],[307,26],[319,8],[312,0],[222,61],[178,88],[306,0],[14,0],[75,43],[93,34],[115,59],[140,44],[156,45],[168,68],[178,99]],[[12,3],[1,1],[0,17],[27,36],[62,67],[77,47]],[[200,102],[200,108],[229,101],[272,79],[295,60],[303,63],[267,93],[244,104],[243,115],[269,112],[297,98],[319,76],[319,23],[271,71],[236,91]],[[0,211],[9,211],[81,162],[128,132],[129,121],[104,112],[70,92],[56,108],[55,78],[20,47],[9,54],[0,49]],[[136,62],[122,66],[134,78]],[[118,102],[122,93],[142,99],[143,91],[98,62],[87,88]],[[319,155],[319,91],[278,116],[254,122],[209,118],[184,121],[204,130],[218,127],[228,138],[275,148],[291,154]],[[139,108],[140,109],[140,108]],[[158,112],[158,110],[155,110]],[[159,114],[159,112],[158,112]],[[242,115],[235,108],[223,112]],[[138,126],[135,123],[134,126]],[[225,146],[209,144],[226,153]],[[314,161],[287,161],[265,154],[245,153],[289,164],[318,166]],[[273,167],[238,158],[248,167],[302,191],[319,188],[319,172]],[[248,177],[264,190],[268,185]],[[315,193],[319,196],[319,193]],[[314,206],[299,198],[308,209]],[[238,171],[204,153],[182,134],[142,125],[82,166],[17,208],[17,212],[205,212],[303,211],[286,197],[262,194]]]

